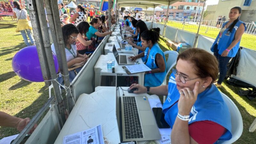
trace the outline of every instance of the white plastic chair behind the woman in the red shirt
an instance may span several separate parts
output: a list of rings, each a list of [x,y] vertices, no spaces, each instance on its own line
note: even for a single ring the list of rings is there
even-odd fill
[[[232,138],[230,140],[222,141],[220,140],[218,143],[221,144],[230,144],[235,142],[240,138],[243,132],[243,119],[240,114],[240,111],[236,107],[235,103],[224,93],[220,92],[222,95],[223,100],[226,102],[229,108],[229,112],[231,115],[231,132],[232,132]]]

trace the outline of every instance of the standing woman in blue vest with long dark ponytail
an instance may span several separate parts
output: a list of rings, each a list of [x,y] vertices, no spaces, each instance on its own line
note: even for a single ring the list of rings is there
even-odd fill
[[[219,61],[220,76],[217,83],[214,83],[217,87],[221,87],[227,73],[227,64],[232,57],[236,56],[242,35],[246,30],[244,22],[239,20],[241,12],[242,9],[238,6],[230,10],[228,15],[230,20],[222,25],[211,47],[211,51]]]

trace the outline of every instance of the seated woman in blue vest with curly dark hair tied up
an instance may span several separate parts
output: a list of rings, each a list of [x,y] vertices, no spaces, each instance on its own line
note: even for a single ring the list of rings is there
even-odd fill
[[[146,58],[145,64],[152,69],[145,72],[144,85],[156,87],[163,83],[166,75],[166,61],[164,52],[160,49],[157,42],[159,41],[160,28],[146,30],[141,34],[141,44],[147,47],[146,50],[136,56],[130,57],[131,60]]]

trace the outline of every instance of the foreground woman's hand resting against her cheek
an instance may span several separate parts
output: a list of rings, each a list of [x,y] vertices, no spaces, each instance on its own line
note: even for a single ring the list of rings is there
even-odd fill
[[[179,90],[180,99],[178,102],[178,109],[180,115],[188,116],[190,114],[191,108],[193,107],[197,99],[198,89],[199,82],[196,82],[193,91],[191,91],[188,87]]]

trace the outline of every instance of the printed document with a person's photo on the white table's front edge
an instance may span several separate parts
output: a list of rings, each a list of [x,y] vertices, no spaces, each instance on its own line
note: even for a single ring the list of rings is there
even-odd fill
[[[104,144],[101,125],[67,135],[63,138],[63,144]]]

